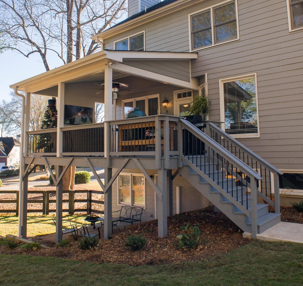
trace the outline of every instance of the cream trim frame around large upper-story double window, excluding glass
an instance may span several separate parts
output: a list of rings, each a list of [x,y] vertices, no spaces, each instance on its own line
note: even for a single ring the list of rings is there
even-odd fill
[[[236,23],[237,23],[237,38],[235,39],[232,39],[232,40],[228,40],[228,41],[224,41],[224,42],[220,42],[220,43],[217,43],[217,44],[214,44],[214,24],[213,24],[213,8],[217,7],[217,6],[220,6],[220,5],[223,5],[225,3],[228,3],[228,2],[231,2],[231,1],[235,1],[235,9],[236,9]],[[206,46],[206,47],[202,47],[202,48],[198,48],[198,49],[192,49],[192,41],[191,41],[191,16],[192,15],[195,15],[195,14],[198,14],[198,13],[201,13],[205,10],[208,10],[210,9],[210,13],[211,13],[211,38],[212,38],[212,44],[209,45],[209,46]],[[230,42],[233,42],[233,41],[238,41],[240,39],[240,33],[239,33],[239,17],[238,17],[238,1],[237,0],[227,0],[227,1],[224,1],[224,2],[220,2],[216,5],[212,5],[212,6],[208,6],[207,8],[204,8],[202,10],[199,10],[199,11],[195,11],[194,13],[191,13],[191,14],[188,14],[188,31],[189,31],[189,51],[190,52],[195,52],[195,51],[200,51],[200,50],[204,50],[204,49],[207,49],[207,48],[211,48],[211,47],[215,47],[215,46],[218,46],[218,45],[221,45],[221,44],[226,44],[226,43],[230,43]]]

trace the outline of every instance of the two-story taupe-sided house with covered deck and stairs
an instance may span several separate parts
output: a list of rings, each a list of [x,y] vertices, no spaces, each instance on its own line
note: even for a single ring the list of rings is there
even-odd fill
[[[303,0],[129,0],[92,38],[102,51],[11,85],[26,93],[20,235],[30,164],[58,166],[58,240],[64,166],[105,168],[105,238],[121,205],[158,219],[159,236],[209,202],[253,237],[280,221],[281,189],[303,189]],[[196,127],[183,117],[202,90]],[[35,94],[57,98],[57,128],[28,130]],[[96,102],[105,123],[71,126]],[[135,107],[147,117],[127,119]]]

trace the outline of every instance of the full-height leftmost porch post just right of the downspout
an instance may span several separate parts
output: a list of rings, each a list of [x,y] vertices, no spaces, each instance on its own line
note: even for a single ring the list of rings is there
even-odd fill
[[[31,105],[31,93],[25,95],[25,108],[22,114],[22,124],[24,124],[23,133],[21,133],[21,148],[20,148],[20,175],[19,175],[19,218],[18,218],[18,236],[25,238],[27,236],[27,190],[28,178],[23,180],[23,172],[27,165],[23,163],[22,158],[26,156],[28,151],[28,136],[29,131],[29,115]]]

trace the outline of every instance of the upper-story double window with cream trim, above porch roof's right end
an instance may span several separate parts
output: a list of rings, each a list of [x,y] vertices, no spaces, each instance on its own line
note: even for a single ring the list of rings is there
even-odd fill
[[[234,0],[189,15],[191,51],[237,40],[237,14]]]

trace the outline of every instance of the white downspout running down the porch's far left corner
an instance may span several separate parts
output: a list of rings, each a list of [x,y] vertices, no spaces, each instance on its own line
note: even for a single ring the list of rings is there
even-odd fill
[[[20,170],[19,170],[19,217],[18,217],[18,236],[22,235],[22,225],[23,225],[23,172],[24,172],[24,159],[23,159],[23,147],[25,140],[24,132],[24,116],[25,116],[25,95],[18,93],[18,87],[15,86],[15,95],[22,97],[22,117],[21,117],[21,140],[20,140]]]

